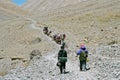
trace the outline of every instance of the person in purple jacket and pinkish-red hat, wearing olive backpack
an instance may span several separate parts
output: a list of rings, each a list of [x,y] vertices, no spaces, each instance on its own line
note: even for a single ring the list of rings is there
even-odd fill
[[[79,55],[79,60],[80,60],[80,71],[83,69],[88,70],[86,68],[86,62],[87,62],[87,57],[88,57],[88,51],[85,47],[85,45],[81,45],[79,51],[77,52],[77,56]]]

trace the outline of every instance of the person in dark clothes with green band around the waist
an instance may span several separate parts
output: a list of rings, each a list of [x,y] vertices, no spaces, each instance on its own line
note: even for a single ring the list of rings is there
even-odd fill
[[[67,62],[67,51],[64,50],[64,47],[61,46],[61,50],[58,52],[58,62],[60,63],[59,68],[61,74],[64,72],[66,69],[66,62]]]

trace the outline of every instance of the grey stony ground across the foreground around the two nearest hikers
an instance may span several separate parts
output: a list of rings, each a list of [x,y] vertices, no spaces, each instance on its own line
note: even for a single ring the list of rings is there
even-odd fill
[[[105,47],[104,47],[105,48]],[[105,50],[116,50],[119,53],[120,46],[106,47],[106,49],[99,49],[97,52],[102,53]],[[48,53],[48,55],[34,57],[30,61],[28,67],[18,67],[8,72],[7,75],[1,77],[1,80],[119,80],[120,79],[120,61],[114,56],[101,56],[100,53],[89,55],[90,66],[89,71],[79,71],[79,63],[77,61],[67,62],[67,74],[60,74],[59,68],[56,66],[56,51]],[[111,51],[110,51],[111,53]],[[72,54],[68,54],[71,56]],[[95,56],[97,55],[97,56]],[[100,56],[98,56],[100,55]],[[116,54],[117,55],[117,54]],[[94,57],[93,57],[94,56]],[[118,55],[119,56],[119,55]]]

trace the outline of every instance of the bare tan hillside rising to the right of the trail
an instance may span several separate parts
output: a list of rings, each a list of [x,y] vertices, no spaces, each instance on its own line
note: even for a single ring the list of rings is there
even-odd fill
[[[54,28],[54,31],[66,33],[68,41],[74,42],[71,46],[80,43],[107,45],[120,42],[119,8],[119,0],[88,0],[46,13],[36,13],[34,19]]]

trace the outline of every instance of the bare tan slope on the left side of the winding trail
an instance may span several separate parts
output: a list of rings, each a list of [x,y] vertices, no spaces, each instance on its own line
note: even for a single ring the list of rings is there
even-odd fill
[[[0,1],[0,75],[28,65],[33,50],[46,53],[54,48],[40,29],[34,29],[36,22],[25,15],[26,11],[13,3]]]

